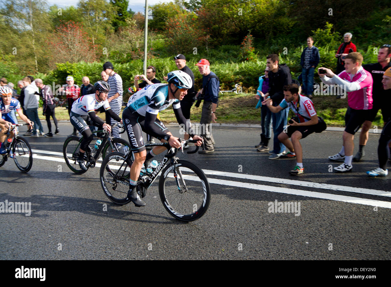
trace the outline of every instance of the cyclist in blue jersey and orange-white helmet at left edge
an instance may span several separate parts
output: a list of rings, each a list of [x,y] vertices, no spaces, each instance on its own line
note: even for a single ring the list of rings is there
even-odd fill
[[[12,110],[16,110],[18,112],[19,117],[28,123],[32,127],[32,121],[30,121],[22,111],[22,108],[20,107],[20,103],[17,99],[12,97],[13,91],[11,88],[7,86],[0,87],[0,110],[1,110],[1,121],[0,121],[0,128],[1,128],[1,134],[0,134],[0,154],[5,154],[7,151],[5,150],[4,141],[7,135],[5,134],[8,130],[8,124],[16,124],[12,117],[9,115],[9,112]],[[11,131],[9,135],[9,139],[11,139],[14,136],[14,132]]]

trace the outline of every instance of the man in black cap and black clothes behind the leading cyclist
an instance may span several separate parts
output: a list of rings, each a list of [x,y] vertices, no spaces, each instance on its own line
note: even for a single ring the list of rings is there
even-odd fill
[[[182,114],[183,114],[183,116],[185,116],[186,120],[189,122],[189,126],[191,127],[190,109],[194,103],[194,97],[195,97],[194,74],[193,74],[193,71],[189,67],[187,67],[186,57],[184,55],[178,54],[174,57],[174,60],[175,60],[175,65],[178,67],[178,70],[185,72],[186,74],[188,74],[190,76],[190,78],[192,78],[193,85],[190,89],[187,90],[187,94],[185,95],[185,97],[181,101]],[[164,76],[163,78],[165,81],[167,81],[166,76]],[[184,139],[189,139],[189,135],[187,133],[185,133],[185,135],[183,137],[184,137]],[[187,147],[188,147],[188,144],[184,148],[187,148]]]

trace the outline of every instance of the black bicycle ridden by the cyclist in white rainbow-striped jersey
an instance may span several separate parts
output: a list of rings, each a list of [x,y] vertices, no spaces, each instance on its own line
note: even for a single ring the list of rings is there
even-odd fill
[[[114,125],[111,125],[111,128],[113,127],[120,127],[123,130],[120,132],[120,134],[125,132],[125,128],[120,123],[115,123]],[[95,149],[91,149],[89,147],[88,150],[84,153],[84,161],[86,162],[86,168],[94,168],[96,162],[99,159],[100,153],[102,153],[102,159],[104,159],[108,154],[112,152],[128,152],[130,144],[121,138],[113,138],[111,136],[110,132],[105,132],[104,130],[97,130],[94,133],[104,133],[103,138],[101,139],[102,142],[100,143],[98,149],[95,151]],[[80,144],[83,141],[83,136],[78,137],[76,135],[71,135],[66,138],[63,146],[63,155],[66,162],[66,165],[70,170],[72,170],[74,173],[85,173],[87,170],[83,170],[80,168],[79,163],[77,162],[77,159],[79,158],[79,150],[80,150]],[[93,153],[95,151],[95,153]]]

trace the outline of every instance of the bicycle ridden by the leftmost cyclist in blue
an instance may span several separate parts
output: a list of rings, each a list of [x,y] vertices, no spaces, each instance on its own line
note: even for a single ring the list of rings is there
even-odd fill
[[[11,130],[14,131],[14,136],[11,138],[11,142],[5,141],[2,144],[5,144],[7,153],[0,155],[0,166],[3,166],[4,163],[8,160],[8,157],[14,159],[16,167],[22,172],[28,172],[32,167],[32,151],[29,142],[24,138],[18,135],[18,131],[15,129],[17,126],[24,126],[29,124],[10,124],[8,132]],[[6,132],[5,134],[8,134]]]

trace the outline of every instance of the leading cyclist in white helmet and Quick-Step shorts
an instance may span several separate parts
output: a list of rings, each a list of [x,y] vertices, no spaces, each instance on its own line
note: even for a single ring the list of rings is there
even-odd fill
[[[192,79],[185,72],[177,70],[167,74],[167,82],[168,84],[153,84],[139,90],[129,98],[127,107],[122,112],[122,119],[135,159],[130,169],[130,189],[127,196],[137,207],[145,206],[145,202],[140,199],[136,191],[142,165],[145,164],[147,168],[152,158],[166,149],[163,146],[155,146],[147,154],[142,131],[163,143],[168,142],[174,148],[181,146],[179,138],[174,137],[157,119],[158,112],[172,105],[178,123],[185,125],[188,134],[194,140],[198,140],[197,146],[202,144],[202,138],[194,135],[181,111],[180,101],[187,94],[187,90],[192,87]]]

